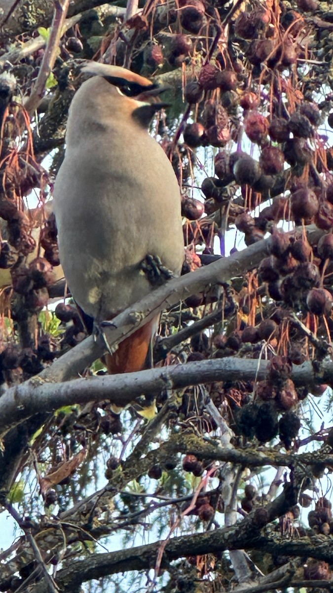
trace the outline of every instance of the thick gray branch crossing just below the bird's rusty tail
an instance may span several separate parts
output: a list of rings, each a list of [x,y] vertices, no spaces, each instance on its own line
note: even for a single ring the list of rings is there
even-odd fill
[[[23,422],[35,414],[53,412],[62,406],[89,401],[109,400],[126,406],[145,393],[153,396],[164,388],[181,389],[189,385],[209,384],[214,381],[253,381],[265,378],[267,361],[257,359],[222,358],[188,362],[120,375],[87,377],[62,383],[51,383],[35,377],[7,390],[0,398],[1,432]],[[318,371],[311,362],[293,367],[296,385],[333,383],[333,363],[326,358]]]

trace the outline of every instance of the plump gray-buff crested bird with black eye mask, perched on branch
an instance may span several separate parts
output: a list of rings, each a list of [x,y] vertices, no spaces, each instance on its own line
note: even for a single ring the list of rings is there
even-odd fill
[[[163,89],[91,62],[73,98],[54,189],[59,254],[72,296],[95,324],[145,297],[154,272],[179,275],[181,200],[167,155],[148,133]],[[107,355],[109,372],[143,368],[158,318]]]

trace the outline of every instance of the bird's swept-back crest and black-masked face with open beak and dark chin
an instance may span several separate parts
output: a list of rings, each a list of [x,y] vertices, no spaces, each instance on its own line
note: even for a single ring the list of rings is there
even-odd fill
[[[81,70],[84,74],[101,76],[109,84],[117,88],[120,95],[131,100],[132,115],[143,126],[147,127],[156,111],[168,107],[168,103],[158,100],[161,93],[168,90],[152,82],[149,78],[140,76],[120,66],[111,66],[99,62],[90,62]]]

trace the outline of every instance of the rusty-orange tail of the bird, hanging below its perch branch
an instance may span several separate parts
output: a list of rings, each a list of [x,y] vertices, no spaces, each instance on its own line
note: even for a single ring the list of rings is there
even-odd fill
[[[113,355],[105,355],[105,364],[110,374],[142,370],[158,321],[159,317],[154,317],[145,326],[120,342]]]

